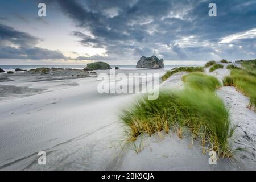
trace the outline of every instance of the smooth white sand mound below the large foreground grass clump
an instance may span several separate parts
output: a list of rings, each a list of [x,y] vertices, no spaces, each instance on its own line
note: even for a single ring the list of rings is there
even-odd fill
[[[198,141],[191,146],[191,137],[177,137],[177,134],[161,133],[154,137],[139,137],[137,146],[142,150],[136,152],[130,148],[125,154],[122,164],[115,169],[121,170],[231,170],[238,169],[236,163],[228,159],[217,160],[217,165],[209,165],[209,156],[202,154]]]

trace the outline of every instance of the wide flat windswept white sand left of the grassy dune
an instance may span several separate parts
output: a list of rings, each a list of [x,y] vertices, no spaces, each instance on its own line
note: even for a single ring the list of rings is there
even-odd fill
[[[118,72],[163,75],[165,71]],[[11,80],[0,82],[0,87],[47,90],[29,97],[8,92],[1,97],[0,169],[111,168],[110,161],[116,157],[113,143],[123,135],[119,111],[134,95],[99,94],[96,77],[35,82],[38,76],[15,73]],[[47,153],[45,166],[37,163],[40,150]]]

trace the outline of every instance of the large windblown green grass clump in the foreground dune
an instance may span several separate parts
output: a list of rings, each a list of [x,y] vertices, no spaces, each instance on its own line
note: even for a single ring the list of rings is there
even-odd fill
[[[231,156],[228,138],[233,129],[228,110],[214,92],[220,86],[218,80],[200,73],[190,73],[183,80],[187,84],[184,90],[162,90],[158,100],[145,96],[123,110],[121,120],[129,139],[170,129],[182,138],[184,129],[189,129],[192,141],[200,139],[203,152],[215,150],[220,156]],[[206,143],[210,145],[206,147]]]

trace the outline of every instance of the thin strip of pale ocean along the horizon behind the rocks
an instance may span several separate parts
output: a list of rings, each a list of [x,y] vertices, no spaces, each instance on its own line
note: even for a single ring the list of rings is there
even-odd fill
[[[163,69],[170,70],[175,67],[187,67],[187,66],[200,66],[200,65],[164,65]],[[14,71],[16,68],[29,70],[29,69],[40,68],[40,67],[83,69],[86,67],[86,65],[0,65],[0,68],[2,68],[6,72]],[[142,68],[136,68],[136,65],[110,65],[110,67],[111,68],[118,67],[120,69],[142,69]]]

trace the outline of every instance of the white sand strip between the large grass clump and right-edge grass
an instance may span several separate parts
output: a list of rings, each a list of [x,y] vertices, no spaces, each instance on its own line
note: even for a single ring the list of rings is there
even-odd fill
[[[230,71],[226,69],[229,64],[223,64],[224,69],[216,69],[209,75],[216,76],[223,80],[225,76],[230,75]],[[241,64],[234,64],[241,67]],[[237,151],[235,159],[246,169],[256,169],[256,113],[247,108],[249,98],[243,96],[236,88],[232,86],[222,87],[217,94],[224,101],[229,109],[232,125],[236,126],[234,133],[233,148],[242,148]]]

